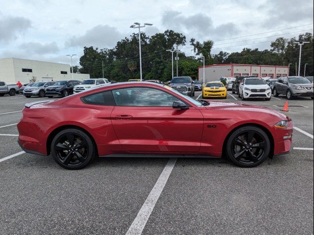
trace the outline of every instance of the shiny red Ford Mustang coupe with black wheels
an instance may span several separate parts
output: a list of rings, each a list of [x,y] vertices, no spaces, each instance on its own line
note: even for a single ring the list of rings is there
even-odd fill
[[[274,110],[197,101],[164,85],[116,83],[25,105],[24,151],[79,169],[95,156],[222,157],[242,167],[292,149],[292,121]],[[125,156],[125,155],[123,155]]]

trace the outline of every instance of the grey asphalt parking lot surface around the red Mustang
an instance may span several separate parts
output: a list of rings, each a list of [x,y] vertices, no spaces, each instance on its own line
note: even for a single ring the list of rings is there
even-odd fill
[[[227,101],[241,102],[228,93]],[[285,114],[298,128],[292,153],[255,168],[206,158],[173,159],[166,168],[169,158],[148,156],[99,158],[78,171],[61,168],[50,156],[20,153],[20,111],[47,99],[0,97],[1,235],[132,234],[130,228],[143,223],[143,235],[313,234],[311,98],[289,101]],[[280,96],[245,102],[279,111],[286,101]],[[147,221],[139,216],[143,205],[151,212]]]

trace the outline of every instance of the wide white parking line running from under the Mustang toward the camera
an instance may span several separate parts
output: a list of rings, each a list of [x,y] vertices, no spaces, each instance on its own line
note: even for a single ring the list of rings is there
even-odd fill
[[[136,218],[134,219],[133,223],[131,224],[126,235],[141,235],[142,234],[143,229],[147,223],[147,220],[149,219],[149,216],[151,215],[155,207],[155,204],[160,196],[160,193],[162,192],[164,186],[167,183],[167,180],[171,174],[173,167],[176,164],[176,161],[177,161],[177,158],[169,159],[165,168],[161,172],[154,188],[152,189],[145,203],[143,204],[141,210],[138,211],[138,214]]]

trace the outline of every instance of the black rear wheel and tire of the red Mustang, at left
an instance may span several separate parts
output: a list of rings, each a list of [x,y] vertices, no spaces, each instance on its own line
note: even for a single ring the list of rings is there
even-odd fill
[[[85,132],[74,128],[60,131],[51,143],[53,160],[70,170],[78,170],[90,164],[96,156],[95,149],[91,138]]]

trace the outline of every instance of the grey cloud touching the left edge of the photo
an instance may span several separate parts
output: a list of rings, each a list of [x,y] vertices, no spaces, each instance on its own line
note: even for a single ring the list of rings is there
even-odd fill
[[[24,17],[2,16],[0,19],[0,42],[16,40],[31,27],[31,22]]]

